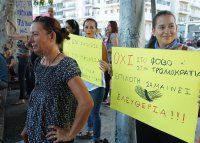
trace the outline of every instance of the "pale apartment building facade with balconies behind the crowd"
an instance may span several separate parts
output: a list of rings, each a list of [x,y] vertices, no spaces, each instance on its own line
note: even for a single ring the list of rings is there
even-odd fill
[[[106,28],[109,20],[115,20],[119,26],[119,0],[56,0],[53,8],[55,10],[55,18],[64,26],[67,19],[75,19],[79,22],[82,29],[83,21],[92,17],[98,22],[98,28],[102,32]],[[49,5],[40,6],[34,10],[36,15],[47,13]],[[200,0],[156,0],[156,10],[172,11],[177,23],[185,24],[189,21],[200,21]],[[148,40],[151,36],[152,15],[151,0],[145,0],[145,30]],[[185,32],[184,34],[186,34]]]

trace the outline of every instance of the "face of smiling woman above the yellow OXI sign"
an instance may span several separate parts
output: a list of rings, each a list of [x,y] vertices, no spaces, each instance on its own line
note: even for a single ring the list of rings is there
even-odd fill
[[[162,15],[156,20],[153,34],[156,36],[160,48],[164,48],[176,39],[177,25],[172,15]]]

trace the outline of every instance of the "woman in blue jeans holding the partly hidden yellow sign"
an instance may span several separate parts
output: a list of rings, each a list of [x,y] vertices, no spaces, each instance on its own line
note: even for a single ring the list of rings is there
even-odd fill
[[[88,18],[83,23],[83,29],[85,32],[85,36],[88,38],[96,38],[96,32],[97,32],[97,22],[96,20],[92,18]],[[108,63],[108,56],[106,47],[102,42],[102,61]],[[101,61],[100,61],[101,63]],[[102,86],[97,86],[95,84],[92,84],[90,82],[84,81],[87,89],[90,92],[90,95],[92,96],[92,99],[94,101],[94,107],[92,109],[92,112],[89,116],[88,122],[87,122],[87,131],[86,133],[80,132],[77,135],[77,138],[79,139],[91,139],[93,138],[93,143],[100,143],[102,140],[100,139],[101,135],[101,118],[100,118],[100,107],[101,102],[103,100],[103,96],[105,93],[105,80],[104,80],[104,71],[102,71]]]

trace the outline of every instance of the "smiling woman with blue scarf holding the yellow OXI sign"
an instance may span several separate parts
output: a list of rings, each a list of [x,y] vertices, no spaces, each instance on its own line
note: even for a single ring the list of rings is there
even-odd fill
[[[154,49],[186,50],[196,51],[193,47],[188,47],[180,43],[177,36],[177,24],[173,13],[170,11],[160,11],[153,18],[153,35],[156,37],[151,47]],[[172,135],[153,128],[143,122],[136,120],[137,143],[185,143]]]

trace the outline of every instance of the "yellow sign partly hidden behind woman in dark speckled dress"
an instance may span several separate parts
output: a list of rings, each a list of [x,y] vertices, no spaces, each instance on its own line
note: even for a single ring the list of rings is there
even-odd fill
[[[99,60],[102,59],[102,41],[70,34],[65,40],[63,53],[78,62],[82,79],[98,86],[102,85]]]

